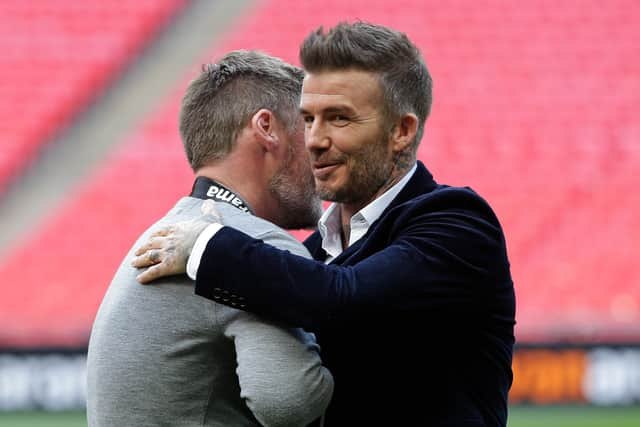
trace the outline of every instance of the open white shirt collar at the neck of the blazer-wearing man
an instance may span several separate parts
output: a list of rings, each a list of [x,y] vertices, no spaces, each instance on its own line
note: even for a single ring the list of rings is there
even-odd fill
[[[349,245],[354,244],[367,233],[371,224],[382,215],[382,212],[384,212],[398,193],[407,185],[407,182],[409,182],[416,169],[417,165],[414,164],[411,170],[393,187],[389,188],[380,197],[373,200],[351,217]],[[318,231],[322,237],[322,249],[329,255],[327,262],[340,255],[343,251],[340,230],[340,209],[336,203],[332,203],[318,221]]]

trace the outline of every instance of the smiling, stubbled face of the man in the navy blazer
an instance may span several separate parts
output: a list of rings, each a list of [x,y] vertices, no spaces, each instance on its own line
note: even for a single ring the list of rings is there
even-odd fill
[[[309,74],[301,102],[316,191],[354,212],[393,181],[381,88],[363,71]]]

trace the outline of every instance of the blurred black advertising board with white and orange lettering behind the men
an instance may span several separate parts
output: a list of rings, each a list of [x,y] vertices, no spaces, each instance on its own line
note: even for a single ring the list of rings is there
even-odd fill
[[[86,349],[0,350],[0,411],[84,409]],[[640,345],[518,346],[511,404],[640,404]]]

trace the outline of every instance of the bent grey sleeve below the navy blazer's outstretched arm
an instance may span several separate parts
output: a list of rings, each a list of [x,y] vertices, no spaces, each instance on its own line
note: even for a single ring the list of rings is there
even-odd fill
[[[306,426],[326,410],[333,377],[312,334],[236,311],[225,327],[233,340],[240,396],[264,426]]]

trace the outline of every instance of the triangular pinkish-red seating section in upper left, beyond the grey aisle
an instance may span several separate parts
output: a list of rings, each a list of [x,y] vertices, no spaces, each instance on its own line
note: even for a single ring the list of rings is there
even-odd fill
[[[0,191],[185,0],[0,3]]]

